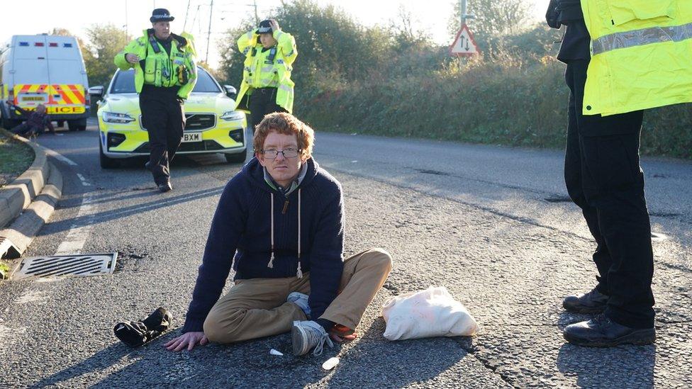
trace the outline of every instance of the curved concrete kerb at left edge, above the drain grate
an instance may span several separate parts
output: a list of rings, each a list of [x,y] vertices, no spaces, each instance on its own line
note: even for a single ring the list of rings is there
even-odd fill
[[[0,259],[15,259],[26,251],[60,201],[62,174],[48,162],[50,150],[6,130],[0,132],[25,142],[35,155],[23,174],[0,189],[0,228],[4,228],[0,230]]]

